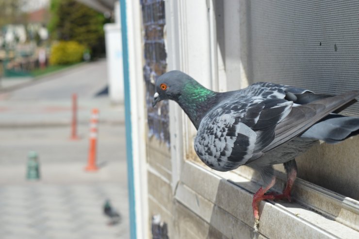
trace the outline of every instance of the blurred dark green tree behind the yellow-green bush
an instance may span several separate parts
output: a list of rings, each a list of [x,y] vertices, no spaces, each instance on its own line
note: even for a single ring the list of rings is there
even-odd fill
[[[77,41],[95,57],[105,52],[103,14],[76,0],[51,0],[50,12],[48,29],[53,39]]]

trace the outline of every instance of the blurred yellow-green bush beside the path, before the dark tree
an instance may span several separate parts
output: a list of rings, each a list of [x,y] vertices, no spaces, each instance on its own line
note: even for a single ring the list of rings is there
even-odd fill
[[[82,61],[85,46],[76,41],[60,41],[51,47],[50,64],[66,65]]]

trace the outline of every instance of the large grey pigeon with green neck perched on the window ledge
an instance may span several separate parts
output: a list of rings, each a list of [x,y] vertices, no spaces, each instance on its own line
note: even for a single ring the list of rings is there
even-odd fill
[[[258,82],[215,92],[173,70],[156,79],[153,107],[162,100],[179,104],[197,129],[196,154],[211,169],[231,171],[246,165],[259,171],[263,186],[252,207],[259,225],[261,200],[288,199],[297,174],[295,157],[319,140],[338,143],[359,134],[359,117],[339,115],[357,102],[359,90],[341,95]],[[276,182],[273,165],[283,164],[287,184],[281,194],[266,193]]]

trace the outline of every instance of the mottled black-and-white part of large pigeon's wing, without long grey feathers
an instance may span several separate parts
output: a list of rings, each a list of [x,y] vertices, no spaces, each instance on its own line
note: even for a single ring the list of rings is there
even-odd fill
[[[195,151],[212,169],[229,171],[259,157],[275,138],[275,128],[291,111],[283,99],[234,99],[222,103],[201,121]]]

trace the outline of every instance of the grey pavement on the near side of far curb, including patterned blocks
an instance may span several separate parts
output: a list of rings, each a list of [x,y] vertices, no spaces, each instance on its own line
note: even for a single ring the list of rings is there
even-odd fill
[[[87,131],[82,126],[79,131]],[[0,239],[128,239],[123,125],[99,125],[97,172],[86,172],[88,137],[69,127],[0,129]],[[39,181],[26,180],[27,153],[39,154]],[[102,206],[121,214],[109,226]]]

